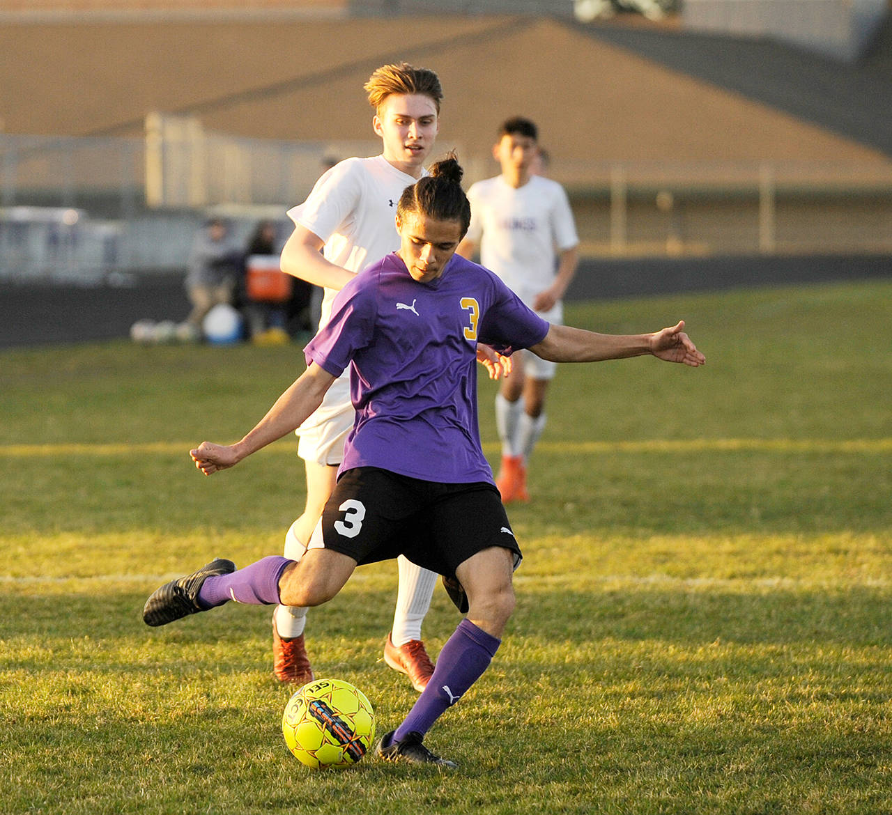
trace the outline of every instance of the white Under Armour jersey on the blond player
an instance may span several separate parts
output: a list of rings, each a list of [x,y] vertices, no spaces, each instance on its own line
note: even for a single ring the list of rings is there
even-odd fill
[[[288,217],[325,241],[326,260],[359,272],[400,248],[393,218],[402,191],[415,182],[384,156],[345,159],[319,178]],[[336,293],[325,290],[319,325],[328,322]]]

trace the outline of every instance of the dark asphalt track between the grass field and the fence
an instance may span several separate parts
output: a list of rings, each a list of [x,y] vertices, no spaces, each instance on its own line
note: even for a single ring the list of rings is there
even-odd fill
[[[567,300],[715,292],[753,286],[892,277],[892,255],[585,259]],[[182,275],[116,284],[0,282],[0,348],[125,338],[139,319],[186,317]]]

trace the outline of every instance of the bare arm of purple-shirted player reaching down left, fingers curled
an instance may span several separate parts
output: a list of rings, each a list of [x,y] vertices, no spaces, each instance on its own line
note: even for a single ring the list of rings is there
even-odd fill
[[[335,377],[316,363],[310,363],[306,371],[270,407],[254,429],[235,444],[214,444],[202,441],[189,451],[195,466],[205,475],[227,470],[243,458],[256,453],[273,441],[295,431],[322,403],[322,397],[335,382]]]

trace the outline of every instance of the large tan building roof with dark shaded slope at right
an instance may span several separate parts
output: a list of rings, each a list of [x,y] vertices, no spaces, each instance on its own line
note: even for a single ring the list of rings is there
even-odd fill
[[[892,157],[892,90],[870,71],[783,45],[533,17],[11,22],[0,119],[7,133],[138,136],[164,111],[238,136],[373,140],[362,85],[401,59],[442,78],[439,146],[478,160],[515,114],[566,166]]]

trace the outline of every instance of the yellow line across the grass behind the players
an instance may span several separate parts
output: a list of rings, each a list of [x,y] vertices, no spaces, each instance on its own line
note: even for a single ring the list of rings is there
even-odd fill
[[[483,446],[491,452],[498,444]],[[295,445],[278,443],[268,450],[295,455]],[[186,441],[151,441],[135,444],[5,444],[0,445],[0,458],[29,458],[45,456],[125,456],[136,454],[188,455]],[[892,452],[892,438],[879,439],[653,439],[641,441],[541,441],[537,450],[550,453],[690,453],[745,452],[766,453],[888,453]]]

